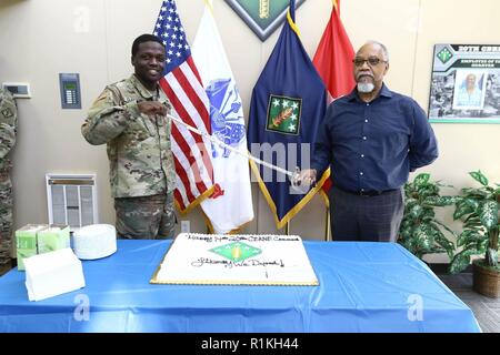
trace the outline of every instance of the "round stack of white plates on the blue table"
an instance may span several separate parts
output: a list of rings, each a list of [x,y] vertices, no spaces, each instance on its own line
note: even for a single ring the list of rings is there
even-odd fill
[[[111,224],[91,224],[73,233],[74,254],[82,260],[111,255],[117,251],[117,230]]]

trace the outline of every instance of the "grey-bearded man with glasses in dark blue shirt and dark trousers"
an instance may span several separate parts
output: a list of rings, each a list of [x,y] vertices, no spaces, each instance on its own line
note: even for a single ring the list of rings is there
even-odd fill
[[[333,241],[396,242],[409,173],[438,158],[434,132],[411,98],[383,83],[389,53],[363,44],[353,60],[357,87],[328,108],[314,143],[311,169],[299,179],[312,184],[330,165]]]

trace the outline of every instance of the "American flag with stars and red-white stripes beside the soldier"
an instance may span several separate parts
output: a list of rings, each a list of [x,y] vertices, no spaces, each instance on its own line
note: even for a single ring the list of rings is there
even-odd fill
[[[192,60],[174,0],[163,1],[153,34],[166,45],[166,68],[160,87],[172,103],[172,115],[211,134],[209,99]],[[212,192],[210,141],[172,122],[171,142],[177,172],[173,195],[179,210],[188,212]]]

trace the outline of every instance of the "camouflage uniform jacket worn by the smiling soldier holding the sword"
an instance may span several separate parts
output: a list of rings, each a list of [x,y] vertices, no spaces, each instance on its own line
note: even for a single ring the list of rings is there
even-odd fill
[[[174,166],[171,122],[139,112],[138,103],[170,103],[161,90],[150,92],[132,74],[108,85],[89,110],[81,132],[90,144],[108,144],[113,197],[138,197],[173,192]]]

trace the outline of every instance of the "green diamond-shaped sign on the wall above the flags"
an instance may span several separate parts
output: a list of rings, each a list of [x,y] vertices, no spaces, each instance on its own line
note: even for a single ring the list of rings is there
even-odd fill
[[[297,0],[299,8],[306,0]],[[289,0],[226,0],[263,42],[287,18]]]

